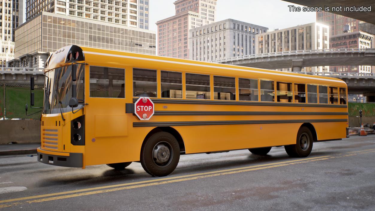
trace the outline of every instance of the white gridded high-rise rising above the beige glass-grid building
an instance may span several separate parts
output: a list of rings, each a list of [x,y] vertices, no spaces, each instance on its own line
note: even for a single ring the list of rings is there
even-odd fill
[[[142,12],[142,27],[146,26],[147,20],[148,28],[148,1],[26,0],[26,21],[45,11],[138,28],[141,25],[139,13]]]

